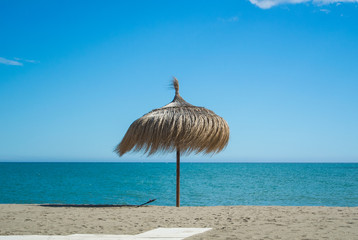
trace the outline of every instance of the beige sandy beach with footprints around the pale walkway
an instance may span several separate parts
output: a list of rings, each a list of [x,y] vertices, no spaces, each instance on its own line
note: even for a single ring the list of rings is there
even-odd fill
[[[210,227],[188,239],[358,239],[358,207],[74,208],[0,204],[0,235],[138,234]]]

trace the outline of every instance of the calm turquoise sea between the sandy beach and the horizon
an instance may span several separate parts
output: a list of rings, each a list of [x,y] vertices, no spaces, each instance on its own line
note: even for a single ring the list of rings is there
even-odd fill
[[[0,203],[175,205],[175,163],[0,163]],[[181,204],[358,206],[358,164],[182,163]]]

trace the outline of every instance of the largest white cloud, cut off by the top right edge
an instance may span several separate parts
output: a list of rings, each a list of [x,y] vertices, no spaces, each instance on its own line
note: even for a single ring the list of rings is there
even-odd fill
[[[269,9],[281,4],[298,4],[298,3],[313,3],[316,5],[327,5],[331,3],[358,3],[358,0],[249,0],[252,4],[255,4],[259,8]]]

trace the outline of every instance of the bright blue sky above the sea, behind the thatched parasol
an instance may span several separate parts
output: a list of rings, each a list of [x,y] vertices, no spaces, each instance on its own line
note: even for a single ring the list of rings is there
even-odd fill
[[[0,160],[119,158],[129,125],[182,97],[228,147],[184,161],[358,162],[358,2],[0,0]]]

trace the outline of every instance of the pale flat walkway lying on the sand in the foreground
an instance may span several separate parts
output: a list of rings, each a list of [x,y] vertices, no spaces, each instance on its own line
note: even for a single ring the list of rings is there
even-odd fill
[[[157,228],[137,235],[73,234],[68,236],[12,235],[0,240],[181,240],[211,228]]]

